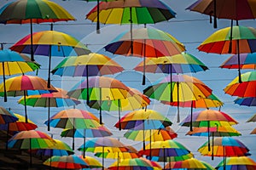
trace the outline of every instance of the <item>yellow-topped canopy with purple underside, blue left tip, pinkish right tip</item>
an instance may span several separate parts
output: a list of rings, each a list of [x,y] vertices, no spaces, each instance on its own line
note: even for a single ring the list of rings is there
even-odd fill
[[[124,68],[113,59],[103,54],[90,53],[65,58],[51,72],[61,77],[92,77],[112,75],[121,71],[124,71]]]

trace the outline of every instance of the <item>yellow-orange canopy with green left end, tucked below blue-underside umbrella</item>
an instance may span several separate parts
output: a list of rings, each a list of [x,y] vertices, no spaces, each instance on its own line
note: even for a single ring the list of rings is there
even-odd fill
[[[177,138],[177,133],[175,133],[171,127],[148,130],[129,129],[127,132],[125,132],[124,136],[126,139],[131,139],[135,141],[155,142]]]

